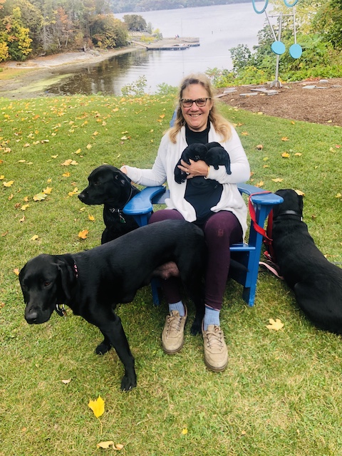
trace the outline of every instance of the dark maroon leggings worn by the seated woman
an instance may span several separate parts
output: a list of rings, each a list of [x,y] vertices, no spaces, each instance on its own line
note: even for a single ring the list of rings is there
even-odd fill
[[[165,219],[184,220],[184,217],[176,209],[160,209],[152,214],[148,223]],[[201,228],[204,231],[208,249],[205,304],[220,310],[229,272],[229,246],[235,242],[241,242],[242,227],[232,212],[220,211],[212,214]],[[162,289],[168,304],[181,300],[180,284],[176,277],[163,281]]]

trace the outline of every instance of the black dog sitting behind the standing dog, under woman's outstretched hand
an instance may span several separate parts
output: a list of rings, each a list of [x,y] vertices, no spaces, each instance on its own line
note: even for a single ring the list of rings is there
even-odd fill
[[[88,182],[88,187],[78,198],[84,204],[104,204],[105,230],[101,244],[138,228],[135,219],[123,213],[123,207],[140,190],[131,184],[123,172],[111,165],[101,165],[90,172]]]

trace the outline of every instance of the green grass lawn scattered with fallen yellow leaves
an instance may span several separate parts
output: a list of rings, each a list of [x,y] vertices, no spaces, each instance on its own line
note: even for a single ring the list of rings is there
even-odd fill
[[[115,351],[95,355],[97,328],[71,311],[38,326],[24,320],[16,269],[41,252],[100,244],[102,207],[85,206],[77,192],[104,162],[150,167],[173,106],[152,96],[0,99],[1,456],[113,454],[96,447],[108,440],[133,456],[342,455],[341,337],[311,325],[268,272],[259,274],[254,308],[242,301],[241,286],[227,284],[224,373],[207,371],[202,338],[190,336],[190,325],[182,352],[163,353],[167,306],[153,307],[148,287],[119,306],[138,374],[130,393],[120,391]],[[341,264],[342,128],[225,105],[222,113],[237,125],[250,182],[304,192],[311,235]],[[85,229],[87,239],[79,238]],[[284,328],[270,331],[269,318]],[[88,401],[99,395],[105,413],[98,419]]]

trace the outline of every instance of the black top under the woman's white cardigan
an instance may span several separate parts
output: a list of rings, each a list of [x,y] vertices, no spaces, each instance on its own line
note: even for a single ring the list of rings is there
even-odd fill
[[[185,139],[187,145],[202,143],[207,144],[210,125],[203,131],[192,131],[185,124]],[[187,179],[187,188],[185,189],[185,199],[190,202],[196,211],[195,224],[204,224],[207,219],[214,213],[210,207],[216,206],[221,199],[223,185],[217,180],[204,179],[204,176],[192,177]]]

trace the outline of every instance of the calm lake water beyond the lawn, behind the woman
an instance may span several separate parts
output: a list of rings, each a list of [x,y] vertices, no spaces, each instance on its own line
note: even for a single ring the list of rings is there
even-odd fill
[[[160,83],[178,86],[183,76],[204,72],[208,68],[232,69],[229,49],[238,44],[252,47],[257,33],[264,27],[264,14],[256,14],[252,1],[246,4],[203,6],[139,13],[152,28],[159,28],[165,38],[198,37],[200,46],[184,51],[135,51],[115,56],[98,64],[89,64],[70,73],[63,68],[54,71],[68,77],[48,93],[99,93],[121,95],[121,88],[140,76],[147,79],[147,92],[155,93]],[[115,14],[122,19],[124,14]]]

